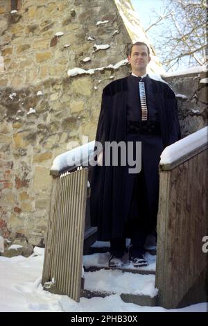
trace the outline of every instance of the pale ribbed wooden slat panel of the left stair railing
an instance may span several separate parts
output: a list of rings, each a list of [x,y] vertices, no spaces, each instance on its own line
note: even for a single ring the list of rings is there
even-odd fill
[[[88,169],[53,175],[42,285],[80,300]]]

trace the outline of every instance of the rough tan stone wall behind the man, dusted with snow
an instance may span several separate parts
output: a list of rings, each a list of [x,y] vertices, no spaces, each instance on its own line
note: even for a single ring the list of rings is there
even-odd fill
[[[130,8],[130,19],[132,7],[130,0],[115,2],[22,0],[11,13],[10,1],[0,0],[0,235],[15,243],[43,245],[53,159],[73,141],[82,144],[83,135],[94,139],[103,87],[128,74],[126,62],[114,66],[126,58],[131,42],[123,17]],[[94,44],[109,46],[98,50]],[[94,70],[68,76],[75,67]],[[195,77],[193,94],[204,94]],[[177,78],[170,82],[177,87]],[[188,132],[204,119],[203,95],[191,94],[180,98]],[[190,112],[189,103],[200,116]]]

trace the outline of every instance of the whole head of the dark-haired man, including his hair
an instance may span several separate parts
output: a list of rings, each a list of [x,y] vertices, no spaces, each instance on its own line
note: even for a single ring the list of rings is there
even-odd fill
[[[137,76],[146,74],[146,67],[150,62],[150,50],[143,42],[136,42],[130,47],[128,62],[132,67],[132,73]]]

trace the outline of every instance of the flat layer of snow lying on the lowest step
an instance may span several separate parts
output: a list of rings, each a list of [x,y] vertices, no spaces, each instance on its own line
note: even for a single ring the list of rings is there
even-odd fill
[[[85,273],[85,289],[105,293],[148,295],[150,298],[154,298],[158,292],[155,289],[155,275],[122,273],[119,270],[103,269]]]

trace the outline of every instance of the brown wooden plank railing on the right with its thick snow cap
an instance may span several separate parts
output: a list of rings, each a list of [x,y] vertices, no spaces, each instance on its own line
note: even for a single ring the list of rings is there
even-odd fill
[[[207,300],[207,128],[166,148],[159,169],[158,304],[182,307]]]

